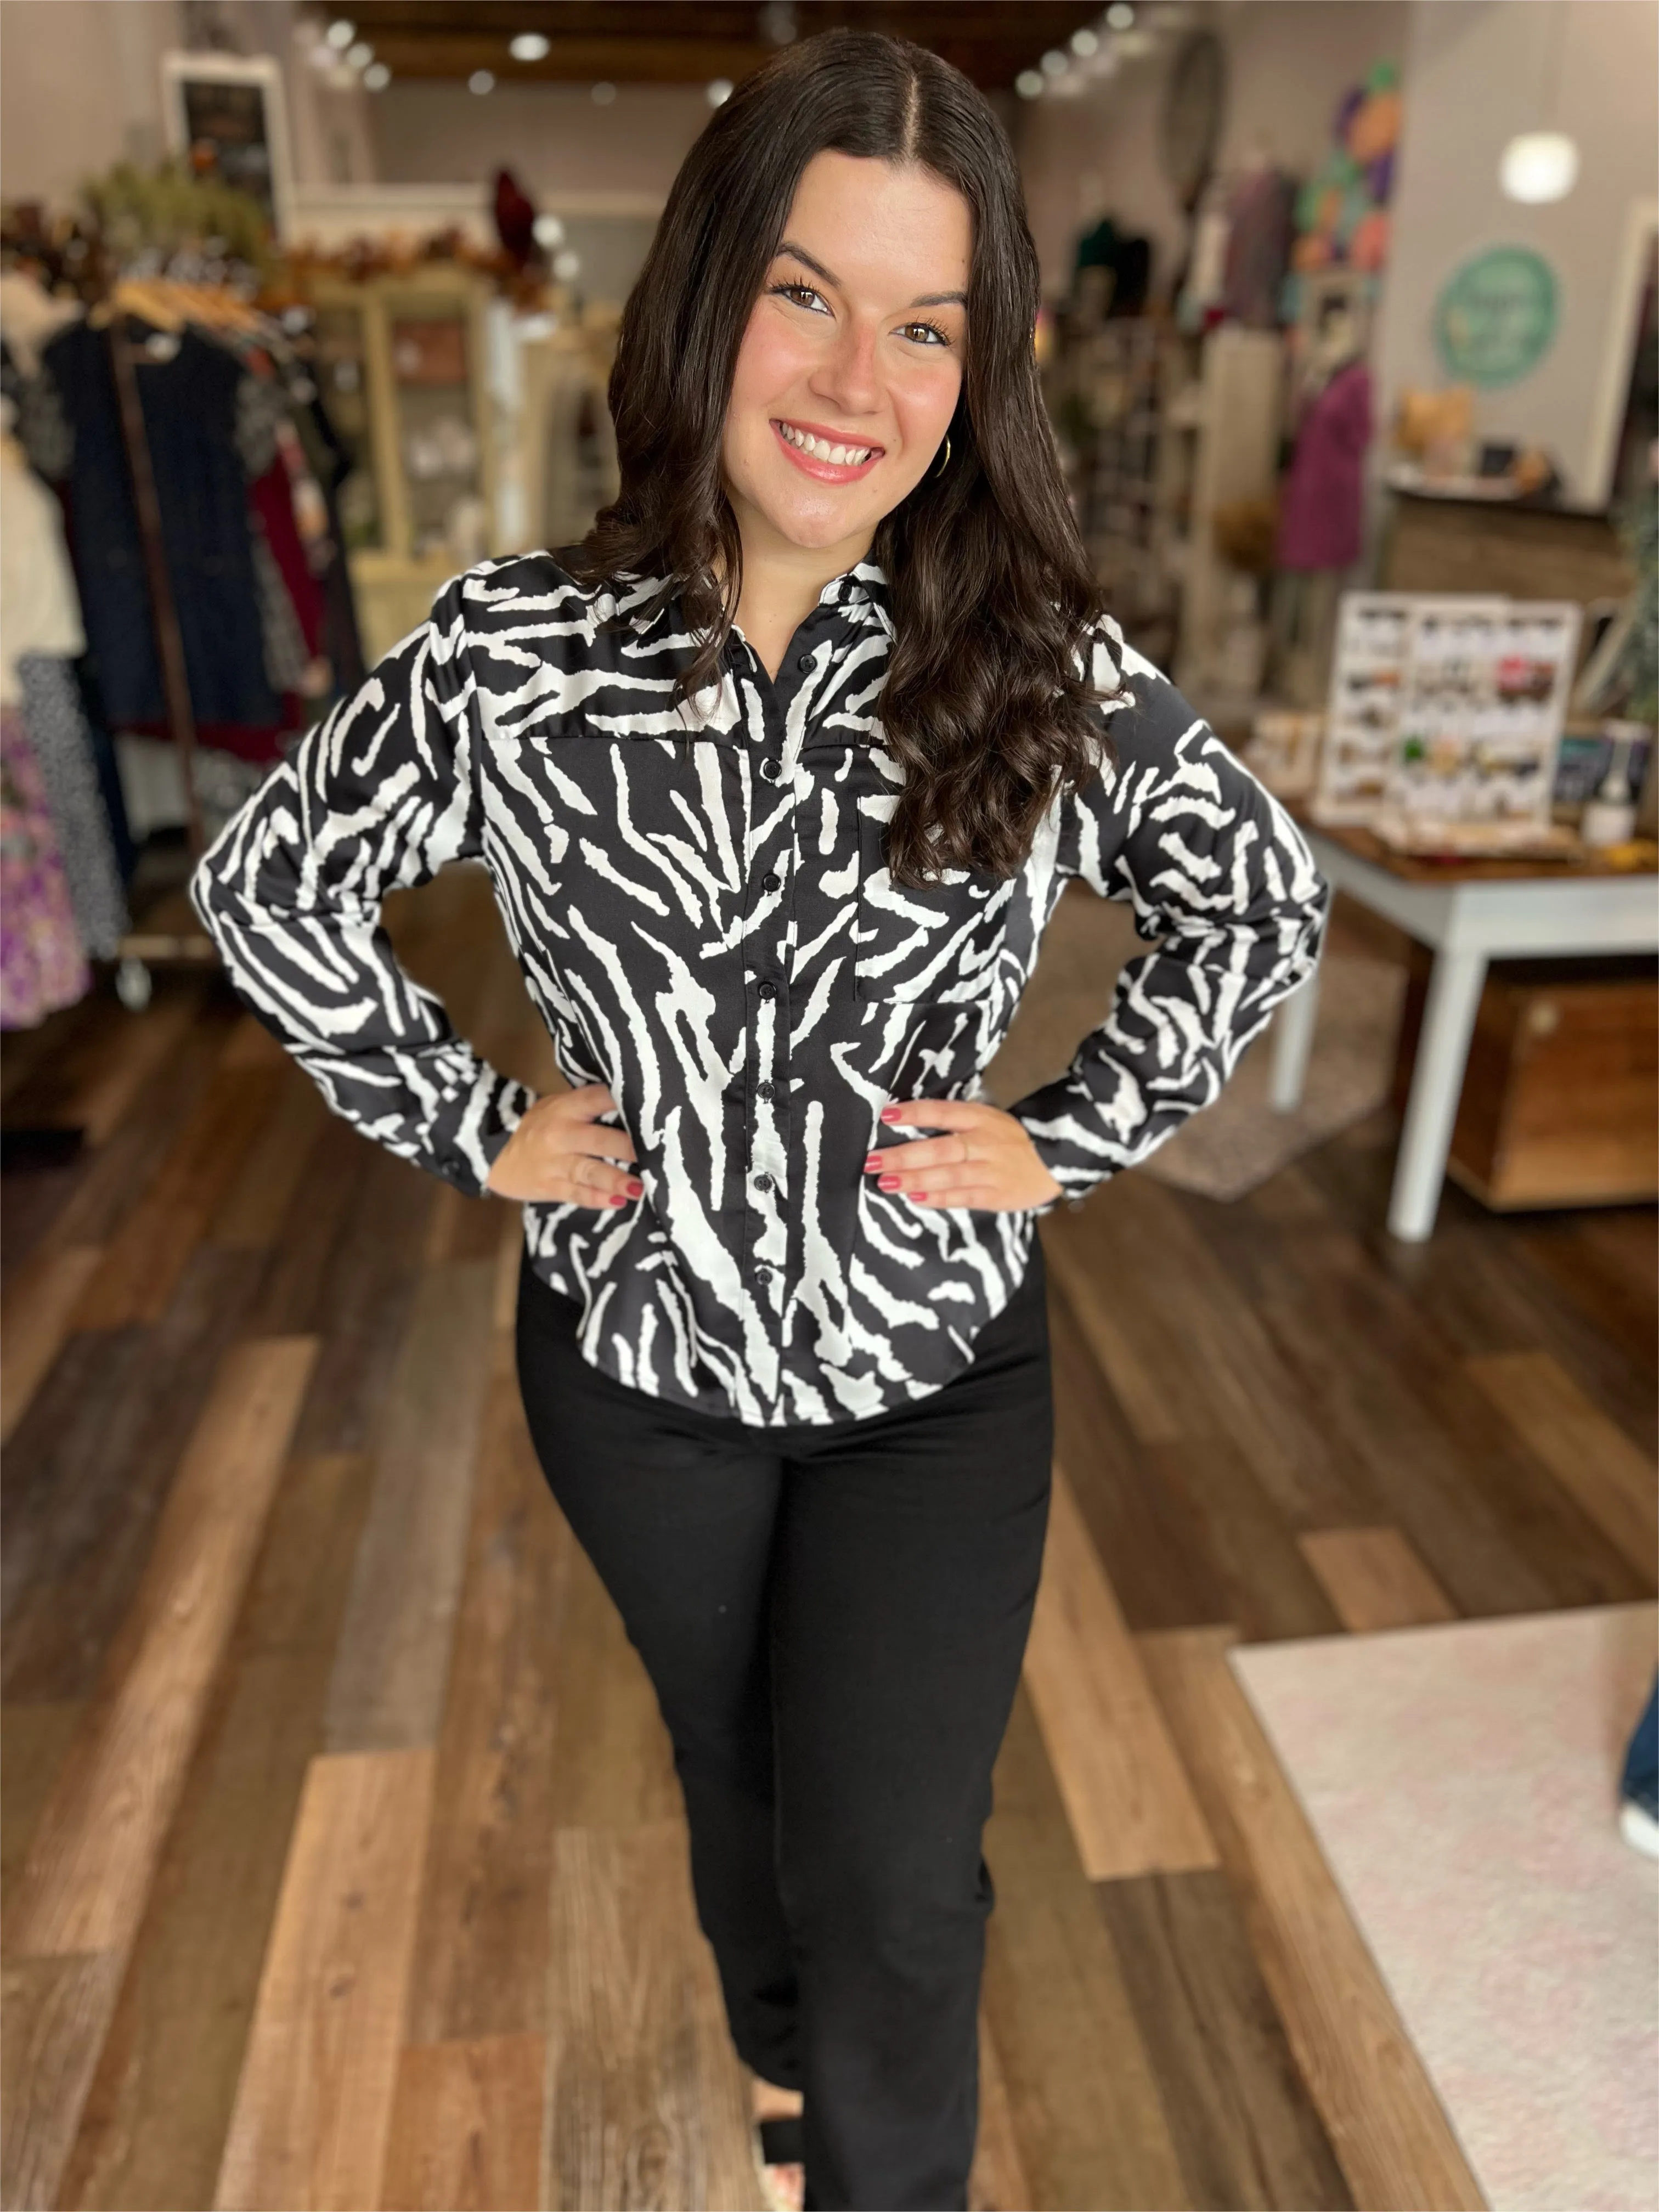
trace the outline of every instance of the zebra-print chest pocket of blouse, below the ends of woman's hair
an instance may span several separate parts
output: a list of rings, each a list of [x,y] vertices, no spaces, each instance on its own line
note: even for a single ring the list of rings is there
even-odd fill
[[[960,867],[918,887],[894,883],[885,823],[860,810],[856,995],[945,1006],[989,998],[1011,896],[1013,883]]]

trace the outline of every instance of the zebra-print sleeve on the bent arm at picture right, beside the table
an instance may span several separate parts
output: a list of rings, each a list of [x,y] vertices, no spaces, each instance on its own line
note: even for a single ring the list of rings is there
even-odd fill
[[[1124,967],[1066,1073],[1011,1108],[1073,1203],[1214,1104],[1314,971],[1329,907],[1292,818],[1150,661],[1099,644],[1095,679],[1108,686],[1117,657],[1117,759],[1071,801],[1062,865],[1128,900],[1155,951]]]

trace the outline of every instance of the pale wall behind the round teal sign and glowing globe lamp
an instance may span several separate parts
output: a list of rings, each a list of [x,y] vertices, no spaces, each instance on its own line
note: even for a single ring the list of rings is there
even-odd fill
[[[1433,345],[1433,303],[1482,246],[1544,254],[1559,285],[1559,330],[1517,385],[1475,396],[1491,438],[1546,445],[1579,498],[1590,478],[1597,394],[1619,321],[1619,246],[1635,201],[1659,190],[1659,7],[1564,0],[1559,71],[1546,88],[1555,9],[1535,0],[1433,0],[1413,13],[1405,144],[1396,175],[1387,296],[1374,363],[1391,407],[1405,385],[1449,383]],[[1579,144],[1573,192],[1548,208],[1504,199],[1498,157],[1517,131],[1548,122]]]

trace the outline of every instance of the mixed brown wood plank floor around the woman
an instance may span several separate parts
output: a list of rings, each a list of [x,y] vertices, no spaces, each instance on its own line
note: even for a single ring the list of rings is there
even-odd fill
[[[482,876],[387,918],[551,1084]],[[2,1192],[4,2205],[757,2203],[668,1743],[518,1402],[518,1214],[210,975],[0,1093],[88,1133]],[[1044,1223],[980,2208],[1480,2203],[1225,1655],[1652,1593],[1655,1214],[1449,1190],[1400,1248],[1391,1144]]]

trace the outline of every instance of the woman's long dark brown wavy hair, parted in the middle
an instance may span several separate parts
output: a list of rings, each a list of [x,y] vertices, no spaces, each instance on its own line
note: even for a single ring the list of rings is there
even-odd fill
[[[699,637],[679,695],[717,681],[743,568],[721,484],[732,374],[801,170],[823,150],[916,161],[973,217],[951,458],[872,546],[896,628],[880,719],[905,768],[887,865],[911,885],[940,867],[1011,876],[1044,810],[1102,759],[1084,635],[1102,602],[1037,383],[1037,254],[1013,148],[949,62],[874,31],[825,31],[714,111],[622,312],[622,493],[566,560],[588,584],[668,577]]]

